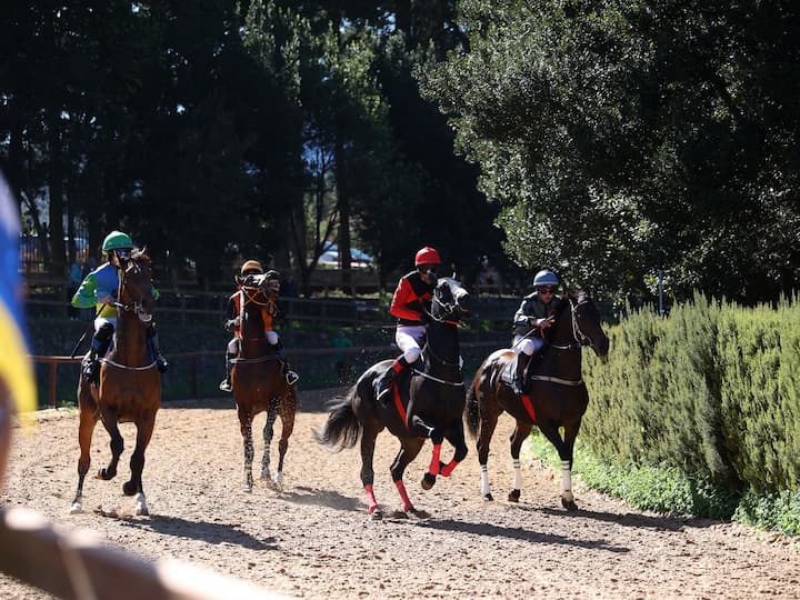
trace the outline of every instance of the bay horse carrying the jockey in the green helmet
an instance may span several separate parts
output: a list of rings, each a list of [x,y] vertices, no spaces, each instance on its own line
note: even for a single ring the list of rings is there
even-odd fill
[[[120,259],[117,292],[117,327],[114,341],[104,358],[100,358],[99,383],[79,376],[78,406],[80,410],[78,441],[78,491],[71,513],[81,512],[83,480],[91,463],[92,433],[98,420],[111,437],[111,461],[98,472],[98,479],[117,476],[117,466],[124,448],[119,423],[134,423],[136,448],[130,459],[131,478],[122,486],[126,496],[136,496],[134,514],[149,514],[142,470],[144,450],[150,443],[156,414],[161,406],[161,376],[156,368],[144,330],[153,318],[156,298],[151,279],[150,257],[133,250],[130,258]]]

